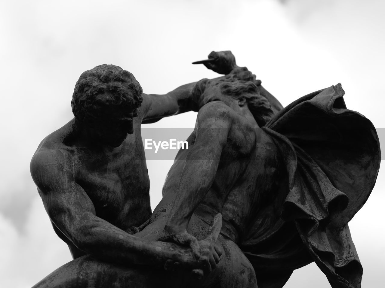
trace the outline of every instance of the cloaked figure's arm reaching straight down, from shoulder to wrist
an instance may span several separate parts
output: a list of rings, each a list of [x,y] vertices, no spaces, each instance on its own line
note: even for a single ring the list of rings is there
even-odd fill
[[[192,213],[213,185],[231,127],[232,118],[225,106],[209,103],[199,111],[195,142],[176,187],[177,196],[165,228],[167,233],[186,233]]]

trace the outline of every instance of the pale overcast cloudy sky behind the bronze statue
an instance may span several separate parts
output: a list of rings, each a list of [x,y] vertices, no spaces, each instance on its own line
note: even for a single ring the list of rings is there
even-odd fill
[[[217,77],[191,62],[231,50],[284,106],[340,82],[347,107],[385,128],[384,12],[381,0],[1,1],[0,286],[30,287],[71,260],[29,162],[40,141],[73,117],[70,100],[83,71],[119,65],[145,93],[166,93]],[[193,127],[195,117],[144,128]],[[153,208],[171,164],[147,161]],[[383,173],[349,224],[363,288],[383,286]],[[313,263],[293,273],[285,288],[294,287],[330,285]]]

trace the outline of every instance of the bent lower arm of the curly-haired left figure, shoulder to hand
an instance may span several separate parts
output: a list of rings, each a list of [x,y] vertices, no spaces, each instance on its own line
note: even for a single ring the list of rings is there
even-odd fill
[[[189,268],[197,266],[188,249],[138,238],[97,217],[89,196],[63,163],[62,153],[45,150],[33,156],[30,168],[50,219],[80,250],[126,265],[163,266],[171,259]]]

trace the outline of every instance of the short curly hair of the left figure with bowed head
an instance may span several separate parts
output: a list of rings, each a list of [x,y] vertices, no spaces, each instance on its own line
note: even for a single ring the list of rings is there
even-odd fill
[[[115,65],[99,65],[87,70],[77,80],[72,95],[72,112],[83,122],[111,106],[134,110],[142,105],[142,87],[132,73]]]

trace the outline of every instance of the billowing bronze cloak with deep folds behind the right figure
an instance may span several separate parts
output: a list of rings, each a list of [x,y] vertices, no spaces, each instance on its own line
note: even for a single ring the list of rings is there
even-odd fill
[[[288,177],[278,191],[284,196],[263,204],[239,245],[259,288],[281,288],[294,269],[313,261],[331,287],[361,286],[348,222],[373,189],[381,155],[373,124],[346,109],[344,93],[337,84],[308,94],[262,128],[279,147]]]

